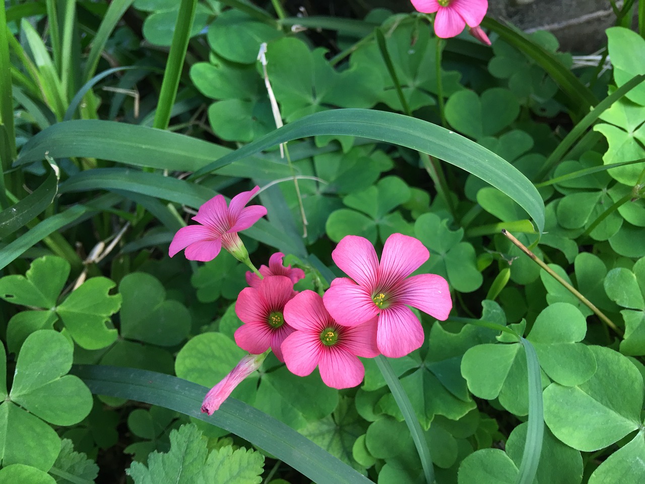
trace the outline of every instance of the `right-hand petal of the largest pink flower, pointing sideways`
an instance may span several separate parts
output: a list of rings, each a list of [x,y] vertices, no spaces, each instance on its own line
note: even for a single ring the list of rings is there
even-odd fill
[[[397,302],[409,304],[445,321],[452,310],[448,282],[437,274],[419,274],[408,277],[397,288]]]

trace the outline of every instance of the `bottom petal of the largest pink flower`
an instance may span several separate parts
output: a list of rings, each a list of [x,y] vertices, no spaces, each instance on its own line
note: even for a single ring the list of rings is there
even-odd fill
[[[421,348],[424,334],[417,316],[404,305],[393,305],[379,314],[377,345],[384,356],[401,358]]]

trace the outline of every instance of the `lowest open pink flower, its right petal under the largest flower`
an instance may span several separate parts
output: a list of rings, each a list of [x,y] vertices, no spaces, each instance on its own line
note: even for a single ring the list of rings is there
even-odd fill
[[[351,328],[341,326],[313,291],[305,290],[286,303],[284,318],[295,328],[282,345],[284,363],[298,376],[307,376],[318,367],[328,387],[355,387],[365,375],[357,356],[379,354],[376,318]]]

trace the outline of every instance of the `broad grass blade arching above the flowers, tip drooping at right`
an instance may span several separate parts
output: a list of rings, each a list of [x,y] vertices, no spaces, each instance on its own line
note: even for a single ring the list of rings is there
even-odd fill
[[[349,135],[406,146],[437,158],[481,178],[511,197],[544,228],[542,197],[524,175],[501,157],[459,134],[421,119],[367,109],[336,109],[310,114],[253,141],[215,163],[201,168],[191,178],[218,166],[255,154],[270,146],[308,136]]]

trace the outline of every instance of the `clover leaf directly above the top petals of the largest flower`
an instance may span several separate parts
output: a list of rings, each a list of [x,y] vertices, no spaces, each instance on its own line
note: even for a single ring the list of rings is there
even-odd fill
[[[372,243],[376,242],[377,236],[385,241],[395,232],[412,235],[412,228],[401,213],[392,212],[406,203],[411,195],[410,187],[401,178],[381,178],[375,186],[342,199],[342,203],[352,210],[341,208],[332,212],[325,226],[327,235],[335,242],[352,234],[365,237]]]

